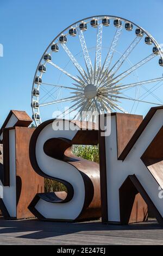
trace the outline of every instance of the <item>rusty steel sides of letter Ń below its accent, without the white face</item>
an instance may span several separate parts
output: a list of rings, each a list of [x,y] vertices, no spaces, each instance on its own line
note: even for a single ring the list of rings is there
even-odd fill
[[[36,193],[44,191],[44,179],[36,174],[29,160],[29,142],[35,129],[28,127],[12,127],[3,130],[4,141],[4,157],[1,179],[3,185],[10,186],[10,166],[9,166],[9,130],[15,130],[15,153],[16,153],[16,219],[31,218],[34,215],[28,210],[28,205],[34,198]],[[2,148],[2,146],[1,146]],[[5,205],[3,199],[0,202],[0,208],[5,218],[12,218]]]

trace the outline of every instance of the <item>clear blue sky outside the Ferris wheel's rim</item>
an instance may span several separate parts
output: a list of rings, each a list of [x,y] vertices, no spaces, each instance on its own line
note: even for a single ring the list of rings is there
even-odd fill
[[[84,17],[108,14],[139,24],[163,43],[162,9],[162,0],[1,0],[4,57],[0,58],[0,125],[10,109],[32,115],[30,100],[37,63],[62,29]]]

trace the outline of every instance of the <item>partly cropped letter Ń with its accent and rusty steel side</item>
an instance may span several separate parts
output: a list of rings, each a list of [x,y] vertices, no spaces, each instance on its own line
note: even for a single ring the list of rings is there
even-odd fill
[[[0,130],[0,209],[5,218],[34,217],[28,205],[37,192],[44,191],[43,178],[29,160],[29,141],[35,130],[28,128],[30,123],[26,112],[10,111]]]

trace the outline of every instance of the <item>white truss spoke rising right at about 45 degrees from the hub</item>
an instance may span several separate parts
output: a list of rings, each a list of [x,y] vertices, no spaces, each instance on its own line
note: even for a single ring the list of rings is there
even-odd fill
[[[127,50],[123,53],[121,58],[118,59],[117,62],[115,63],[115,65],[111,68],[111,70],[109,71],[109,75],[116,74],[116,72],[121,68],[124,61],[128,58],[129,54],[134,50],[136,45],[139,44],[141,39],[142,39],[142,37],[140,38],[139,36],[136,36],[136,38],[133,40],[133,42],[131,42],[131,44],[129,45]]]

